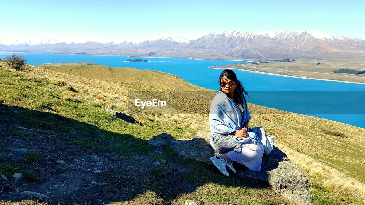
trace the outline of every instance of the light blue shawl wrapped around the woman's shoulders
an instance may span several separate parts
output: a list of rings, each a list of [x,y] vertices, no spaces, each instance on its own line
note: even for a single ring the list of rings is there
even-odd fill
[[[223,91],[218,90],[210,105],[209,112],[209,126],[212,134],[228,134],[242,128],[243,123],[246,121],[247,105],[243,103],[242,94],[240,94],[239,100],[245,109],[243,117],[241,117],[240,109],[233,99]]]

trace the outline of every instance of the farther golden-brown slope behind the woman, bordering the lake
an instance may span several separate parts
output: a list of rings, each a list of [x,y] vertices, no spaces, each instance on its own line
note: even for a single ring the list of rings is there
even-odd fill
[[[99,77],[137,88],[166,100],[180,111],[202,114],[203,117],[208,117],[210,103],[215,94],[212,90],[191,85],[174,75],[152,70],[100,65],[44,66],[53,71],[70,73],[71,70],[76,76],[90,75],[91,78]],[[280,143],[285,146],[295,150],[299,146],[299,152],[315,159],[324,159],[330,166],[351,176],[355,174],[361,182],[365,182],[365,143],[362,143],[365,129],[258,105],[250,104],[249,109],[253,116],[250,126],[264,127],[278,136]],[[204,131],[208,131],[208,121],[202,119],[201,125],[204,125]],[[201,127],[199,126],[200,129]],[[338,136],[342,134],[344,137]]]

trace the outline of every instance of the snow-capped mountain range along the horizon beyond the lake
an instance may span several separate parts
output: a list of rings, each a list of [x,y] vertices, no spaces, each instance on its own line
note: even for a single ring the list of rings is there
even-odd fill
[[[212,32],[195,40],[181,36],[135,42],[6,41],[0,51],[135,55],[207,59],[364,57],[365,40],[319,31]]]

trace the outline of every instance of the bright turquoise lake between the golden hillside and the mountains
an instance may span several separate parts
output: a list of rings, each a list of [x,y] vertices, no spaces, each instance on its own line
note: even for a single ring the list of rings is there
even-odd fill
[[[11,53],[0,53],[0,58]],[[222,69],[210,69],[244,61],[188,58],[147,58],[112,55],[70,55],[20,53],[30,65],[43,63],[91,62],[110,67],[133,67],[174,74],[204,88],[218,90]],[[141,58],[149,62],[126,62]],[[247,62],[249,63],[249,62]],[[250,97],[248,102],[266,107],[321,117],[365,128],[365,85],[257,74],[234,70]]]

